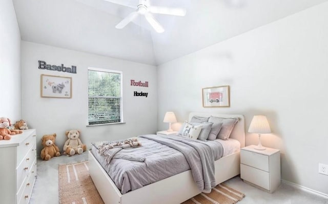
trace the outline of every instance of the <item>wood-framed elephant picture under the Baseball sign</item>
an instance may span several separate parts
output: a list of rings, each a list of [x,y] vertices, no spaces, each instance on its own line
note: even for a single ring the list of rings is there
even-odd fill
[[[72,98],[72,77],[41,74],[41,97]]]

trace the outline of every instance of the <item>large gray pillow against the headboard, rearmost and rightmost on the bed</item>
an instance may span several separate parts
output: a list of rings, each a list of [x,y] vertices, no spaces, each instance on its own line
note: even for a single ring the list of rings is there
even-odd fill
[[[229,139],[233,128],[238,122],[237,118],[223,118],[223,117],[214,117],[214,116],[211,116],[209,121],[213,123],[220,123],[220,122],[223,123],[222,128],[216,138],[224,139],[224,140]]]

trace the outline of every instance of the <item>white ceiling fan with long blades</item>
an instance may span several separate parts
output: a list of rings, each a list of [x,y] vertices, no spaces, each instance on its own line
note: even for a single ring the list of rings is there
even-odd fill
[[[134,12],[130,13],[127,17],[122,19],[122,21],[115,26],[115,28],[118,29],[124,28],[131,21],[133,21],[138,15],[144,15],[148,23],[155,29],[155,31],[158,33],[162,33],[164,32],[164,28],[158,23],[158,21],[154,18],[152,13],[176,15],[176,16],[186,15],[186,9],[151,6],[149,4],[149,0],[139,0],[139,4],[137,6],[133,6],[123,0],[105,0],[105,1],[135,9]]]

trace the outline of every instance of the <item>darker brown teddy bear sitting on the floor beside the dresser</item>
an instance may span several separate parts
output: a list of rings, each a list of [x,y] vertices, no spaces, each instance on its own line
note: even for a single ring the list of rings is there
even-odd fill
[[[54,156],[60,156],[59,148],[55,145],[56,133],[52,135],[44,135],[42,137],[41,158],[43,160],[49,160]]]

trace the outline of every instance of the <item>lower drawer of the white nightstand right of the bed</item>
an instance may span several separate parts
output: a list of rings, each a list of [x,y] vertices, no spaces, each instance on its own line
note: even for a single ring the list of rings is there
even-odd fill
[[[270,190],[269,172],[240,164],[240,178]]]

